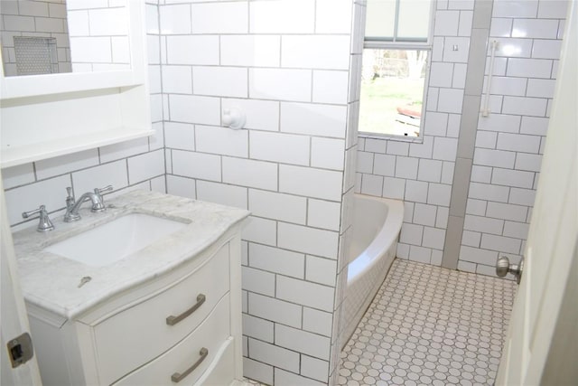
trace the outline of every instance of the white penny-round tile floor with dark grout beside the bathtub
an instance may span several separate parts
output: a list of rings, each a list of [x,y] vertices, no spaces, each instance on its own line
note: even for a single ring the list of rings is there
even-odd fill
[[[516,284],[396,259],[341,353],[340,385],[491,385]]]

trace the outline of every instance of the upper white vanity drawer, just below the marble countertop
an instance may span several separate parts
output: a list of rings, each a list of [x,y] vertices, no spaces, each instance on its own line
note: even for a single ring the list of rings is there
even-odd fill
[[[99,382],[117,381],[180,342],[210,314],[228,292],[228,286],[229,256],[225,244],[186,278],[95,325]],[[198,308],[186,315],[194,306]],[[178,316],[176,323],[169,325],[169,316]],[[226,320],[228,324],[228,317]]]

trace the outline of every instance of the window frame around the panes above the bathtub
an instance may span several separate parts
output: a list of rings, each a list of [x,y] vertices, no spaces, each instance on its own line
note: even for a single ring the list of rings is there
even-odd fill
[[[396,6],[399,6],[397,1]],[[363,38],[363,49],[374,49],[374,50],[398,50],[398,51],[427,51],[427,60],[425,61],[425,77],[424,77],[424,94],[422,96],[422,118],[420,119],[419,126],[419,136],[409,137],[409,136],[398,136],[395,134],[382,134],[382,133],[372,133],[368,131],[362,131],[361,127],[358,127],[358,135],[363,138],[375,138],[375,139],[393,139],[400,142],[424,142],[424,126],[425,126],[425,112],[427,110],[427,96],[429,91],[429,78],[430,71],[432,68],[432,56],[433,56],[433,28],[435,24],[435,11],[437,9],[437,0],[431,0],[430,8],[430,25],[428,28],[427,39],[424,42],[419,38],[404,38],[403,41],[396,40],[396,31],[394,31],[394,36],[392,38],[378,38],[373,37],[368,39],[365,36],[365,32],[362,35]],[[396,28],[397,28],[397,15],[396,15]],[[361,54],[361,61],[363,61],[363,53]],[[361,84],[361,71],[359,71],[359,85]]]

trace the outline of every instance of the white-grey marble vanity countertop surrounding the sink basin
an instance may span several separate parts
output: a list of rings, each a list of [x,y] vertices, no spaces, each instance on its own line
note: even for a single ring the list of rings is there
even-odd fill
[[[57,315],[75,317],[130,287],[178,268],[210,247],[249,212],[211,202],[163,193],[132,191],[105,196],[106,212],[90,212],[89,202],[79,211],[82,219],[52,219],[46,233],[34,227],[13,234],[23,296],[27,302]],[[92,267],[45,251],[46,247],[129,213],[145,213],[188,223],[171,235],[115,263]],[[90,281],[79,287],[81,278]]]

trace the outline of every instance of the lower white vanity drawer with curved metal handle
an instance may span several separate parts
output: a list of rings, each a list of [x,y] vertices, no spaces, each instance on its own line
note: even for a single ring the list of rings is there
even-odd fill
[[[126,385],[192,385],[200,379],[205,372],[223,372],[223,369],[214,369],[215,363],[219,363],[221,356],[227,354],[228,346],[231,345],[229,334],[229,303],[228,295],[223,297],[209,317],[181,343],[175,345],[170,351],[163,353],[153,362],[147,363],[140,369],[126,375],[117,381],[115,386]],[[200,354],[206,349],[206,354]],[[196,364],[194,370],[186,374]],[[233,380],[234,366],[228,366],[228,384]],[[227,369],[226,369],[227,370]],[[185,375],[186,374],[186,375]],[[172,377],[181,376],[181,380],[173,380]],[[221,381],[223,374],[219,374]],[[203,377],[207,379],[208,377]],[[210,378],[210,377],[209,377]]]

